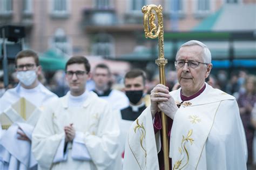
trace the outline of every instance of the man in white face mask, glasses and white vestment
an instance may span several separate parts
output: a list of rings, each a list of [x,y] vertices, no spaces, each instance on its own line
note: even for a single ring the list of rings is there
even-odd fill
[[[0,135],[0,169],[29,169],[36,166],[37,163],[30,154],[33,126],[43,110],[43,105],[57,98],[56,94],[46,89],[38,80],[42,67],[36,52],[20,51],[16,55],[15,65],[19,83],[14,89],[7,90],[0,99],[0,114],[8,115],[13,123],[8,130],[2,130]],[[25,117],[21,117],[12,106],[21,98],[38,108],[30,117],[28,112]],[[23,107],[26,105],[23,104]]]

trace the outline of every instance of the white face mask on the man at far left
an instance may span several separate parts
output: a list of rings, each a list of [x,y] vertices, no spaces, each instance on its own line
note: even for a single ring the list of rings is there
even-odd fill
[[[36,80],[36,70],[18,71],[17,79],[25,86],[30,86]]]

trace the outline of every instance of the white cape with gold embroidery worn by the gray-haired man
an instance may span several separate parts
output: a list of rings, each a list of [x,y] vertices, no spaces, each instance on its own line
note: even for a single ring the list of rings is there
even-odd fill
[[[170,92],[178,103],[180,90]],[[154,135],[148,107],[130,128],[124,169],[159,169],[159,151],[160,135]],[[246,139],[235,98],[206,84],[198,97],[184,101],[173,120],[170,158],[174,169],[246,169]]]

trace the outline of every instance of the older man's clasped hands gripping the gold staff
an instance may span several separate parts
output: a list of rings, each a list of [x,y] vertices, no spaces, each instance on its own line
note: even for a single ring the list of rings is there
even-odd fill
[[[171,119],[174,118],[174,115],[178,110],[178,106],[169,94],[168,87],[163,84],[158,84],[154,87],[150,94],[150,101],[152,118],[154,118],[154,115],[159,111],[163,111]]]

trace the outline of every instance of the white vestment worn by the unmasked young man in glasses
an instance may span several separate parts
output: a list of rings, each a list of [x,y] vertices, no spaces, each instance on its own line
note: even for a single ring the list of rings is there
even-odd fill
[[[76,135],[64,153],[64,126],[70,124]],[[48,105],[39,118],[32,134],[32,152],[42,169],[114,169],[119,133],[111,108],[94,92],[88,93],[79,108],[69,107],[66,95]],[[59,148],[63,155],[58,159]]]

